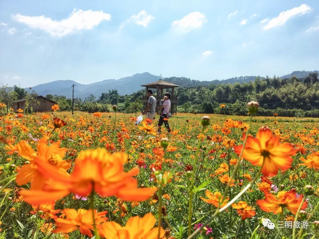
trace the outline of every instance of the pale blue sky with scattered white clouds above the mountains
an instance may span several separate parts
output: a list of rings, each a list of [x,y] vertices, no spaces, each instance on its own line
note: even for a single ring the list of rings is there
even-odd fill
[[[0,83],[318,70],[318,0],[1,1]]]

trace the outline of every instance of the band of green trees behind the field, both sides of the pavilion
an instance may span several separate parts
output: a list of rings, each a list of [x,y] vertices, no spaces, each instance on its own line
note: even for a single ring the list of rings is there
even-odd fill
[[[175,81],[176,84],[182,80],[184,84],[189,85],[189,87],[175,88],[175,95],[178,97],[178,112],[196,111],[245,115],[247,113],[246,103],[255,100],[261,106],[259,110],[261,115],[280,113],[280,115],[286,116],[319,117],[317,72],[310,73],[304,78],[293,76],[289,79],[281,79],[276,76],[273,78],[257,76],[254,81],[249,83],[210,83],[197,86],[194,86],[197,81],[189,78],[171,77],[168,79],[171,82]],[[18,99],[24,97],[20,90],[24,91],[15,86],[14,91],[18,95]],[[156,94],[156,90],[154,90],[154,94]],[[117,90],[113,89],[101,93],[100,96],[91,94],[84,99],[79,98],[75,108],[88,112],[105,112],[111,109],[111,105],[117,105],[120,112],[139,112],[144,107],[141,100],[143,95],[145,95],[145,90],[121,96]],[[58,102],[61,110],[71,109],[72,100],[70,98],[58,95],[47,95],[46,97]],[[221,108],[220,104],[226,106]]]

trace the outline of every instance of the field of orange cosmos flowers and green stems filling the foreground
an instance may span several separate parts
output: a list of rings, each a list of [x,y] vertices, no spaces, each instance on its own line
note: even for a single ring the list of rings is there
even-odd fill
[[[318,238],[319,119],[0,117],[2,238]]]

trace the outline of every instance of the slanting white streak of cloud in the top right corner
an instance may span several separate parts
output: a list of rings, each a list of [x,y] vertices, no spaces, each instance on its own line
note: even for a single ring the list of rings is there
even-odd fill
[[[280,12],[279,16],[276,18],[272,18],[266,26],[264,26],[264,30],[271,29],[276,26],[280,26],[286,23],[289,18],[295,16],[301,16],[303,14],[309,13],[312,9],[307,4],[301,4],[299,7],[295,7],[293,9]]]

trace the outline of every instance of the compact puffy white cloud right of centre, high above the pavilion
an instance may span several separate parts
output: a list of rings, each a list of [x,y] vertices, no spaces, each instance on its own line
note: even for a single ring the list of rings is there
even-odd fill
[[[205,22],[207,22],[205,15],[198,11],[194,11],[182,19],[172,22],[172,27],[178,31],[187,33],[196,28],[202,27]]]

